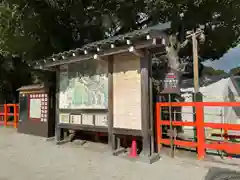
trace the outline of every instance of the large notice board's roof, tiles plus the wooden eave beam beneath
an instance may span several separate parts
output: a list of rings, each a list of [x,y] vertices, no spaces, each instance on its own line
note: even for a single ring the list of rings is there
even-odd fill
[[[49,69],[62,64],[93,59],[94,56],[109,56],[128,52],[133,46],[136,50],[168,44],[165,31],[171,28],[171,22],[158,24],[149,28],[135,30],[123,35],[84,45],[81,48],[53,54],[51,57],[36,61],[36,69]]]

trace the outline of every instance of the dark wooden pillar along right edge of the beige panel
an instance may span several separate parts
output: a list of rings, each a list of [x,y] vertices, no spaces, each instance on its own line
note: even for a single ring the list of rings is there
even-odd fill
[[[145,50],[144,57],[141,57],[141,115],[142,115],[142,137],[144,156],[150,156],[150,136],[149,136],[149,122],[150,122],[150,108],[149,108],[149,53]]]

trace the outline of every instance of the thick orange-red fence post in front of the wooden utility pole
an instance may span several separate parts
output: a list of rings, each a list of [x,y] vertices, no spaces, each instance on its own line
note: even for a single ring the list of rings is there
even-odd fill
[[[201,160],[205,156],[205,131],[204,131],[204,116],[203,103],[196,103],[196,126],[197,126],[197,153],[198,159]]]

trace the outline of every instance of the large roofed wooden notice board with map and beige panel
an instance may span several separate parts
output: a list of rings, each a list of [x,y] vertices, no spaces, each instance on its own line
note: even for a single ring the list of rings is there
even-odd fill
[[[35,68],[56,71],[56,136],[62,129],[107,132],[142,138],[151,156],[151,56],[165,53],[171,23],[87,44],[38,61]],[[152,143],[151,143],[152,142]]]

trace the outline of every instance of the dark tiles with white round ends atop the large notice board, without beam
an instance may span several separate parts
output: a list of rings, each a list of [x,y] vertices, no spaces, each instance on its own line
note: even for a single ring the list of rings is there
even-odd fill
[[[102,53],[111,49],[119,49],[126,45],[134,45],[139,41],[147,41],[153,38],[162,38],[165,43],[168,43],[168,39],[166,36],[166,31],[171,28],[171,22],[158,24],[152,27],[148,27],[141,30],[135,30],[123,35],[114,36],[108,39],[104,39],[101,41],[96,41],[93,43],[89,43],[84,45],[81,48],[76,48],[69,51],[64,51],[58,54],[53,54],[51,57],[48,57],[43,60],[36,61],[34,66],[40,67],[45,64],[58,64],[56,62],[66,62],[73,56],[82,57],[84,59],[85,56],[89,56],[90,54]],[[162,37],[159,37],[159,34],[162,34]],[[85,58],[89,59],[89,58]]]

